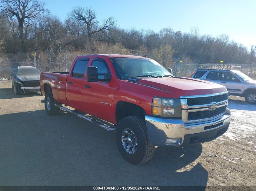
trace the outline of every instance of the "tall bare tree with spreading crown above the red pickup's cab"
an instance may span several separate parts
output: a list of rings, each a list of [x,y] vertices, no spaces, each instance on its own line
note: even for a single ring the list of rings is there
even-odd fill
[[[74,7],[68,14],[69,19],[75,19],[77,22],[85,24],[88,41],[91,44],[92,36],[96,33],[107,33],[115,26],[115,19],[109,17],[100,24],[96,18],[97,15],[93,8]]]

